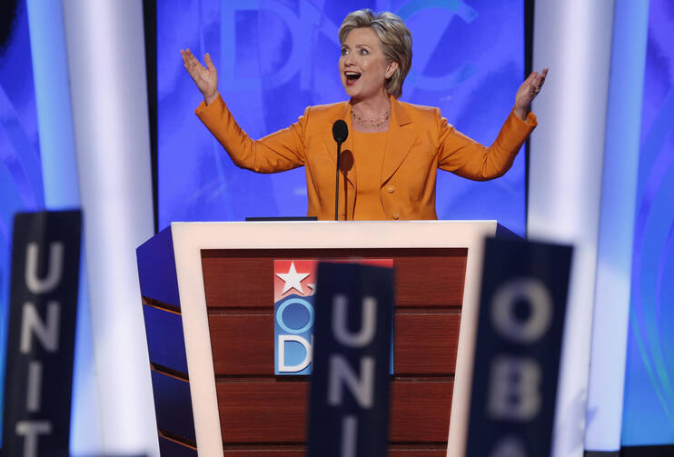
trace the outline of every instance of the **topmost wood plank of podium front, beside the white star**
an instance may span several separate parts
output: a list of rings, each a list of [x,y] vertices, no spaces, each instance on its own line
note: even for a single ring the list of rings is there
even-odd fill
[[[398,306],[460,307],[466,249],[203,250],[206,305],[273,308],[274,259],[392,258]]]

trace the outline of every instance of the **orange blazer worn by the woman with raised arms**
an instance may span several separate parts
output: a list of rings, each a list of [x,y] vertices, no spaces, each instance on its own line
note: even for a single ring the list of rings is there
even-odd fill
[[[497,178],[510,169],[537,124],[532,113],[526,121],[510,113],[494,143],[485,147],[448,124],[438,108],[407,104],[393,97],[391,105],[380,174],[382,208],[388,219],[437,219],[438,168],[477,181]],[[337,144],[332,124],[342,119],[352,132],[349,102],[310,106],[295,124],[257,141],[236,124],[221,97],[209,105],[202,102],[195,113],[241,168],[276,173],[304,166],[307,214],[334,220]],[[352,148],[350,134],[342,144],[343,156],[349,157]],[[358,193],[357,165],[341,162],[340,219],[352,220]]]

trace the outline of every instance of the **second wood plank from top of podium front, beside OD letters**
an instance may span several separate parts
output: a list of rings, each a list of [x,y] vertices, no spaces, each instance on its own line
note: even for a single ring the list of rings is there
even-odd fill
[[[216,376],[273,376],[273,314],[211,314]],[[454,373],[461,315],[396,313],[396,374]]]

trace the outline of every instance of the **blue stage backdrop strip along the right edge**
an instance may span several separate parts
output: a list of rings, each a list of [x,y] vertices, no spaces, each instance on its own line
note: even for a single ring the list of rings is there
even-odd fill
[[[623,446],[674,444],[674,8],[651,0]]]

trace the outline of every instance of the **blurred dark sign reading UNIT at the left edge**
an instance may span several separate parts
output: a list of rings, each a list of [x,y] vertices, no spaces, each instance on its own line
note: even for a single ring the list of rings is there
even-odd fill
[[[3,455],[69,455],[79,211],[15,216]]]

